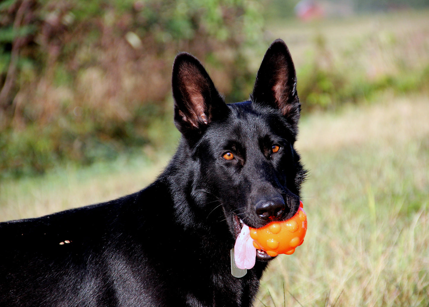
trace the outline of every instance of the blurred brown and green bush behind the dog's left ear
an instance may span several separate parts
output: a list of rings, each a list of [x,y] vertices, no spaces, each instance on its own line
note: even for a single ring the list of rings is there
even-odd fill
[[[245,99],[261,11],[256,0],[4,0],[0,179],[169,142],[178,51]]]

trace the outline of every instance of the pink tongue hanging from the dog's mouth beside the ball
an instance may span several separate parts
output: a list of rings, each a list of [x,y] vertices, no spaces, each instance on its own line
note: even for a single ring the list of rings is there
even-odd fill
[[[253,239],[250,237],[249,226],[244,224],[234,245],[234,260],[237,267],[241,269],[251,269],[255,265],[256,248],[253,246]]]

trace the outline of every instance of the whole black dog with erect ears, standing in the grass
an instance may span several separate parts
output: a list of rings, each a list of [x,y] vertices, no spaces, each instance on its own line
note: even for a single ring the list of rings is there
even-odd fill
[[[293,147],[292,59],[273,42],[251,99],[227,105],[202,64],[181,53],[172,90],[182,138],[153,184],[0,224],[0,306],[252,305],[272,257],[259,250],[238,278],[230,250],[243,222],[259,228],[292,217],[305,178]]]

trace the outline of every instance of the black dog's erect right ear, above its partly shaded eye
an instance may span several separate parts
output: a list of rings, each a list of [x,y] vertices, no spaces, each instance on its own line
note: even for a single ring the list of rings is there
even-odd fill
[[[269,46],[256,75],[252,102],[277,108],[297,124],[301,105],[296,93],[296,73],[289,49],[281,39]]]

